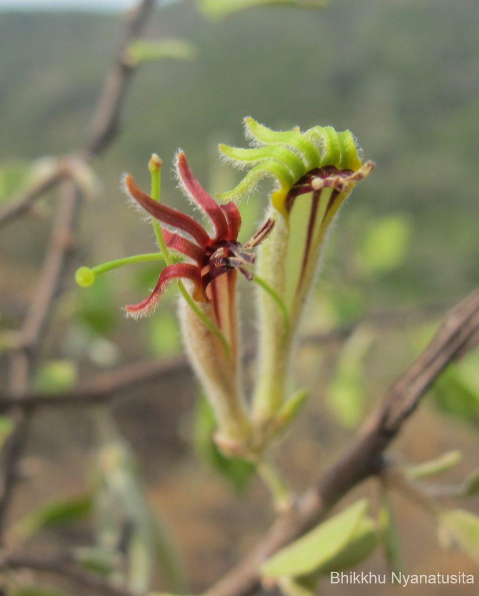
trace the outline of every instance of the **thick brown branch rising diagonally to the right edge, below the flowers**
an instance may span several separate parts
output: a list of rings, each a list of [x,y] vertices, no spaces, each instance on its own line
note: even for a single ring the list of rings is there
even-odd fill
[[[270,528],[254,550],[213,585],[205,596],[245,596],[260,584],[264,561],[317,524],[350,489],[384,465],[384,451],[402,429],[434,380],[465,347],[477,344],[479,290],[452,309],[429,346],[385,395],[376,411],[360,428],[352,445],[317,486]]]

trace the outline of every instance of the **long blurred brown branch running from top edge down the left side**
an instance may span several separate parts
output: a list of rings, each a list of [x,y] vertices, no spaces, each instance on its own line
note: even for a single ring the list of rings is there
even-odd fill
[[[136,10],[130,13],[123,42],[118,52],[116,66],[112,71],[113,74],[107,76],[104,91],[99,101],[97,116],[94,118],[94,124],[98,126],[98,129],[94,133],[88,148],[88,154],[84,158],[85,161],[91,159],[91,154],[98,155],[104,151],[113,140],[113,132],[116,130],[123,96],[133,73],[131,67],[120,69],[118,65],[123,63],[123,56],[127,48],[141,32],[153,6],[154,0],[142,0]],[[39,195],[39,192],[42,193],[48,188],[54,187],[55,184],[60,182],[61,178],[62,176],[58,179],[53,178],[46,187],[44,185],[42,188],[37,188],[36,193],[30,193],[27,197],[23,197],[23,203],[25,203],[25,199],[27,199],[27,203],[31,203]],[[61,275],[71,248],[71,237],[79,206],[79,194],[73,182],[66,181],[64,184],[64,191],[60,196],[58,206],[57,220],[52,228],[51,241],[45,257],[38,290],[35,292],[26,320],[21,328],[19,346],[12,354],[10,391],[18,401],[21,401],[29,393],[30,378],[35,367],[36,349],[41,340],[42,331],[48,324],[54,299],[60,289]],[[20,212],[21,209],[17,210],[17,213]],[[13,215],[11,214],[9,219],[12,218]],[[8,438],[2,452],[4,471],[0,495],[0,533],[4,527],[5,516],[15,485],[17,462],[21,457],[29,434],[30,410],[20,407],[15,408],[13,419],[15,430]]]

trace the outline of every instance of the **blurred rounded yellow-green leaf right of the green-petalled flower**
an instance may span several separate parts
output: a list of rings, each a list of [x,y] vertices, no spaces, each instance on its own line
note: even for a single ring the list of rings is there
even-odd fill
[[[406,259],[411,224],[404,215],[392,215],[372,221],[365,232],[360,264],[366,271],[396,269]]]

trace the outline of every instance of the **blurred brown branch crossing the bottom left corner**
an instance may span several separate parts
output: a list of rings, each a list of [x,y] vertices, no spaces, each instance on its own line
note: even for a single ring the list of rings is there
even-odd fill
[[[28,569],[38,573],[48,573],[67,579],[75,587],[80,586],[88,591],[98,592],[106,596],[133,596],[126,588],[114,586],[108,581],[93,575],[69,560],[36,557],[29,554],[5,554],[0,556],[0,569],[5,571]]]

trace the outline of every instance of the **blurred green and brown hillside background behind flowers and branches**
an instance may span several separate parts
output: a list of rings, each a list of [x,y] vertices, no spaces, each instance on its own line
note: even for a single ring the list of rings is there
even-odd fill
[[[66,10],[67,4],[76,10]],[[104,0],[95,2],[95,11],[79,11],[80,4],[90,3],[0,2],[1,204],[49,157],[88,141],[121,33],[114,9],[132,3]],[[99,190],[82,212],[74,266],[43,343],[36,389],[67,390],[102,371],[181,352],[174,296],[149,319],[125,319],[120,310],[147,296],[157,265],[119,269],[88,289],[74,284],[77,266],[154,250],[151,226],[120,192],[123,172],[148,188],[148,159],[157,152],[166,163],[163,200],[183,209],[169,167],[178,147],[216,193],[239,179],[220,163],[216,145],[245,146],[244,116],[274,129],[349,128],[377,169],[354,191],[332,234],[306,330],[330,336],[298,352],[295,372],[311,399],[278,448],[291,485],[298,492],[309,486],[424,346],[444,311],[479,279],[478,30],[475,0],[454,6],[447,0],[332,0],[324,10],[271,6],[225,20],[208,18],[192,1],[161,5],[147,37],[181,38],[192,47],[185,46],[186,60],[142,65],[126,97],[121,134],[94,164]],[[266,201],[265,192],[242,203],[244,240]],[[32,297],[54,202],[54,193],[47,195],[0,234],[2,333],[19,327]],[[251,346],[253,293],[246,284],[241,289],[244,339]],[[337,330],[347,330],[346,342]],[[446,477],[451,483],[477,465],[477,364],[472,355],[444,375],[394,445],[398,457],[419,462],[462,449],[462,461]],[[5,358],[0,374],[6,386]],[[249,374],[251,380],[253,368]],[[191,375],[139,386],[111,412],[132,450],[143,496],[175,537],[191,589],[206,588],[268,527],[264,489],[256,481],[245,488],[247,471],[211,454]],[[13,528],[24,516],[35,527],[34,505],[91,495],[98,446],[117,436],[117,430],[105,431],[104,416],[93,408],[36,415]],[[377,505],[377,488],[371,481],[352,498],[366,492]],[[461,552],[440,549],[434,523],[421,510],[403,498],[394,497],[393,505],[406,572],[477,573]],[[471,508],[479,511],[477,499]],[[44,552],[58,545],[90,548],[95,523],[88,515],[45,527],[37,520],[41,531],[30,530],[28,540]],[[360,569],[385,572],[380,550]],[[164,573],[155,582],[164,588]],[[389,589],[326,580],[321,593],[384,595]],[[404,593],[449,596],[475,589],[422,585]]]

